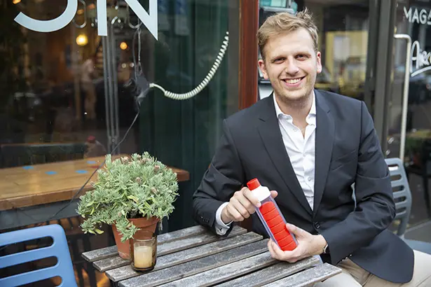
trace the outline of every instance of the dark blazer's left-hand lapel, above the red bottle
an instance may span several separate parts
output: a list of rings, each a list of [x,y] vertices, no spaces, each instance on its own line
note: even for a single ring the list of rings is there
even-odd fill
[[[303,190],[299,184],[298,179],[296,179],[292,163],[289,160],[289,155],[287,155],[285,144],[282,140],[280,127],[278,125],[278,118],[275,115],[273,94],[271,94],[271,96],[268,98],[269,99],[266,99],[265,108],[262,110],[261,115],[259,116],[260,122],[257,129],[259,130],[262,141],[264,141],[264,145],[269,157],[275,165],[275,168],[278,170],[281,178],[285,182],[287,188],[296,197],[296,199],[299,200],[303,208],[306,209],[310,215],[312,215],[313,212],[310,209],[310,205],[307,202],[306,196],[303,194]],[[278,196],[284,196],[280,190]]]

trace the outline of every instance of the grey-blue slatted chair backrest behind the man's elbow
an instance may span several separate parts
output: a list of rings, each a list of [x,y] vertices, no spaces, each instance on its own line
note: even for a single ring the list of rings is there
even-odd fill
[[[411,212],[411,191],[407,180],[404,163],[399,158],[385,159],[390,172],[390,183],[393,190],[396,216],[399,219],[397,235],[404,237]]]

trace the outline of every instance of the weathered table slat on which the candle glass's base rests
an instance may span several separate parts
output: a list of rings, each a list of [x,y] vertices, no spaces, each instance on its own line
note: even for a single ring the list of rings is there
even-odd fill
[[[259,241],[261,239],[263,239],[261,235],[258,235],[254,232],[249,232],[245,235],[238,235],[232,238],[227,238],[221,241],[216,241],[210,244],[205,244],[195,248],[161,256],[160,258],[157,258],[156,267],[154,267],[153,272],[160,269],[165,269],[167,267],[179,265],[184,262],[189,262],[191,260],[203,258],[212,254],[220,253],[222,251],[228,251],[229,249]],[[106,274],[108,278],[117,282],[141,275],[141,273],[135,272],[135,270],[130,267],[129,263],[130,262],[126,262],[127,266],[107,271]]]

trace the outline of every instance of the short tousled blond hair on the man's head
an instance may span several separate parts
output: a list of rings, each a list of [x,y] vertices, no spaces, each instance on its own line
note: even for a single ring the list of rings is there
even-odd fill
[[[319,36],[317,35],[317,27],[313,22],[313,16],[308,8],[305,8],[296,15],[288,12],[277,13],[268,17],[264,24],[257,31],[257,41],[261,56],[265,59],[264,48],[268,40],[273,36],[296,31],[296,29],[304,28],[308,31],[313,39],[313,46],[317,52],[317,42]]]

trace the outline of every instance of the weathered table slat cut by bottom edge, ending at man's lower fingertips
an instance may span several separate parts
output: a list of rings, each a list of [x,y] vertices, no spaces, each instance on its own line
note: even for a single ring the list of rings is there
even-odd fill
[[[266,251],[265,253],[254,255],[228,265],[210,269],[206,272],[189,276],[184,279],[172,281],[162,286],[212,286],[228,279],[253,272],[254,270],[274,265],[277,262],[278,260],[273,259],[271,257],[271,253]]]

